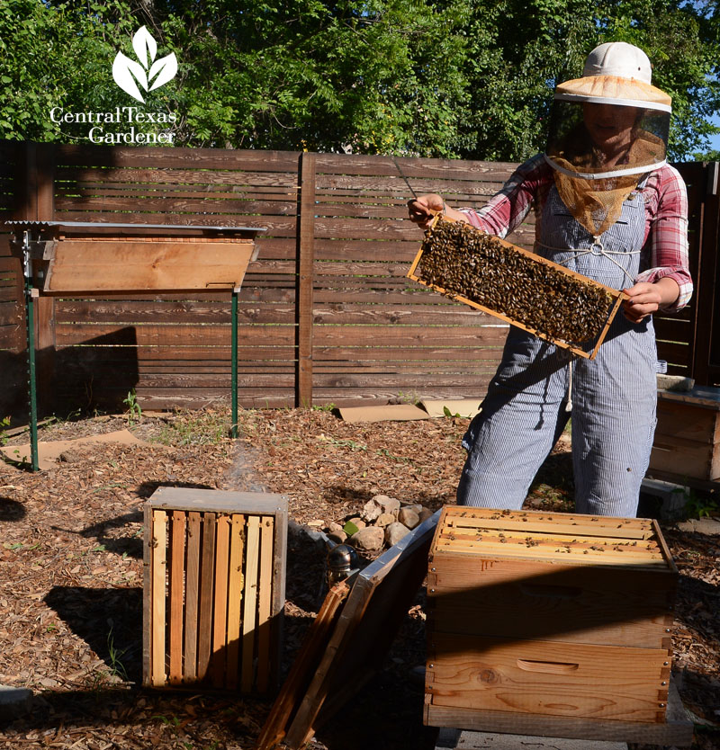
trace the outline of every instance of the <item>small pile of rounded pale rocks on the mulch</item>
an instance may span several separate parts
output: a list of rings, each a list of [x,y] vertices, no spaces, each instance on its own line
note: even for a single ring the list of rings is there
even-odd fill
[[[365,503],[358,516],[344,524],[329,523],[327,534],[338,544],[352,544],[364,552],[375,552],[397,544],[432,514],[420,504],[401,504],[395,497],[376,495]]]

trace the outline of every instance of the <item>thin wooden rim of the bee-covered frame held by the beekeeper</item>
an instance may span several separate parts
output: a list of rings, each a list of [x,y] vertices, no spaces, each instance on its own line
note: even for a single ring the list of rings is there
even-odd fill
[[[441,214],[437,214],[435,219],[433,219],[432,224],[430,226],[429,231],[432,232],[433,228],[435,228],[437,221],[442,218],[446,221],[455,221],[455,219],[450,219],[446,216],[443,216]],[[480,231],[480,230],[478,230]],[[562,265],[559,265],[558,263],[553,263],[553,261],[549,261],[546,258],[542,257],[541,255],[538,255],[536,253],[532,253],[529,250],[524,249],[523,247],[518,247],[517,245],[513,245],[512,243],[508,242],[507,240],[501,239],[500,237],[493,237],[493,239],[497,240],[497,242],[500,243],[500,245],[504,247],[508,247],[513,252],[516,252],[518,254],[524,255],[526,258],[529,258],[530,260],[536,262],[536,263],[542,263],[543,265],[547,266],[548,268],[552,268],[555,272],[563,273],[565,276],[568,276],[572,279],[577,279],[578,281],[582,281],[584,284],[588,284],[592,287],[604,290],[608,293],[608,295],[612,298],[612,303],[610,305],[609,311],[608,311],[608,318],[605,322],[605,326],[603,327],[602,331],[599,334],[598,341],[595,344],[595,346],[592,348],[590,352],[586,352],[584,349],[581,349],[579,346],[575,346],[573,344],[570,344],[569,342],[563,341],[563,339],[556,338],[553,335],[548,335],[543,331],[539,331],[536,328],[526,326],[523,323],[520,323],[518,320],[516,320],[513,317],[509,317],[508,315],[505,315],[504,313],[501,313],[497,310],[493,310],[491,308],[487,308],[484,305],[479,304],[478,302],[475,302],[473,299],[468,299],[467,297],[464,297],[464,295],[456,293],[454,290],[446,290],[443,289],[440,286],[437,286],[436,284],[429,283],[428,281],[425,281],[422,277],[418,275],[418,266],[422,259],[423,253],[424,253],[424,243],[420,246],[418,254],[415,256],[415,260],[413,261],[412,265],[410,266],[410,271],[408,272],[408,278],[412,279],[413,281],[418,281],[423,286],[428,287],[429,289],[435,290],[440,292],[440,294],[445,295],[446,297],[449,297],[451,299],[455,299],[458,302],[462,302],[465,305],[469,305],[471,308],[475,308],[477,310],[482,310],[482,312],[487,313],[488,315],[491,315],[493,317],[498,317],[500,320],[504,320],[506,323],[509,323],[511,326],[518,326],[518,328],[522,328],[523,330],[527,331],[530,334],[536,335],[539,338],[544,339],[545,341],[550,342],[551,344],[555,344],[557,346],[563,347],[563,349],[569,349],[573,354],[576,354],[579,357],[583,357],[585,359],[595,359],[595,356],[598,353],[598,350],[600,348],[600,344],[603,343],[605,340],[606,335],[608,335],[608,330],[610,328],[610,324],[615,319],[615,316],[617,315],[617,311],[620,308],[620,305],[625,299],[630,299],[627,294],[624,291],[618,291],[616,289],[613,289],[612,287],[608,287],[605,284],[601,284],[598,281],[593,281],[592,279],[588,278],[587,276],[583,276],[581,273],[572,271],[568,268],[565,268]]]

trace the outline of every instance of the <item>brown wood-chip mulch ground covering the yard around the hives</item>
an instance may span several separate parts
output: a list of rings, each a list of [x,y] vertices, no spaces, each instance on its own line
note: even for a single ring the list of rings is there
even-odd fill
[[[0,728],[0,747],[253,747],[271,700],[140,688],[143,503],[160,486],[278,492],[308,529],[344,522],[378,494],[435,510],[454,502],[468,420],[358,425],[318,409],[253,410],[241,413],[236,441],[228,424],[221,410],[144,415],[130,429],[145,445],[80,443],[36,474],[0,462],[0,684],[35,695],[29,715]],[[51,423],[40,440],[127,426],[111,416]],[[566,443],[546,461],[527,507],[572,509]],[[680,568],[676,680],[696,720],[693,747],[710,750],[720,746],[720,538],[670,522],[663,531]],[[318,611],[323,574],[323,553],[291,534],[284,669]],[[414,670],[424,649],[420,591],[383,670],[311,746],[432,747]]]

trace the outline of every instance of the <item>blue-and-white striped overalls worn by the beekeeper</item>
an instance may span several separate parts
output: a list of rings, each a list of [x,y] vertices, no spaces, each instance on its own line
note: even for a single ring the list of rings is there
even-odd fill
[[[536,253],[555,263],[618,290],[642,270],[642,194],[631,194],[599,242],[572,218],[555,187],[541,220]],[[635,516],[653,445],[656,366],[652,317],[633,324],[619,311],[592,361],[510,326],[482,412],[464,436],[468,457],[457,502],[519,509],[563,432],[572,397],[576,510]]]

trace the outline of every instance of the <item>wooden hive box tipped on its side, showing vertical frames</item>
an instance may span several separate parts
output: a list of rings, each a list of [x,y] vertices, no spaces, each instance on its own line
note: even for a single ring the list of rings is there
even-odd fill
[[[144,528],[143,684],[275,687],[286,498],[160,487]]]

